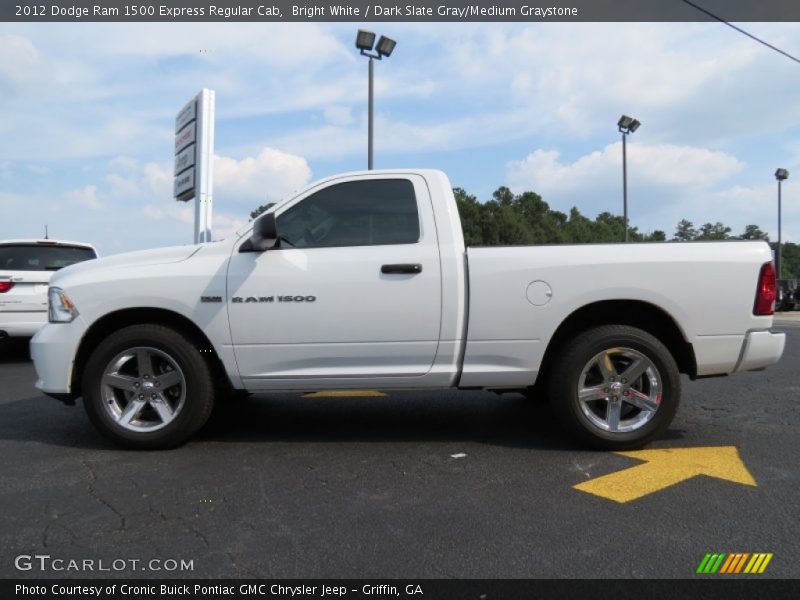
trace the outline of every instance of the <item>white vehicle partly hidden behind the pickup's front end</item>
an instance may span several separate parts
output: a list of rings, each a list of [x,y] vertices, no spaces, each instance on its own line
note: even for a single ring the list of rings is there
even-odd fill
[[[53,273],[97,258],[89,244],[58,240],[0,240],[0,341],[32,337],[47,323]]]

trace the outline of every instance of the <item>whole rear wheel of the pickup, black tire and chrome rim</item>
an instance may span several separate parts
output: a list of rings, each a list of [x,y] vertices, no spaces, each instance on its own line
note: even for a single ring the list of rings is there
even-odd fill
[[[567,431],[593,448],[644,446],[672,422],[680,373],[667,348],[626,325],[589,329],[562,347],[548,396]]]

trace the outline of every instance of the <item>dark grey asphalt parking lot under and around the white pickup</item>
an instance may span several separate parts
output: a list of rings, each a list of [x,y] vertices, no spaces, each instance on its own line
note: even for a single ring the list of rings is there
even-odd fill
[[[129,452],[38,394],[18,346],[0,358],[0,577],[92,576],[15,568],[34,554],[193,561],[118,573],[137,577],[723,577],[695,571],[742,552],[774,555],[750,577],[795,578],[800,320],[776,328],[779,365],[684,380],[650,446],[735,447],[757,485],[700,475],[627,502],[573,486],[641,460],[575,449],[516,394],[252,397],[180,449]]]

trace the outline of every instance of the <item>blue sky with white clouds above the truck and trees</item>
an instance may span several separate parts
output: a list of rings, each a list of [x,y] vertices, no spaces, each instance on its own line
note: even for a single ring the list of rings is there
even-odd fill
[[[800,64],[720,23],[2,23],[0,239],[50,236],[103,255],[191,243],[172,199],[174,118],[216,92],[214,238],[313,180],[367,165],[444,170],[485,201],[501,185],[553,208],[757,224],[800,242]],[[743,27],[800,56],[800,24]]]

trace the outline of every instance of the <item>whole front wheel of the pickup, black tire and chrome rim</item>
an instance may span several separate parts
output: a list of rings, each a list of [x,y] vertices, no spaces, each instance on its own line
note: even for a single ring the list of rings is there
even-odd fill
[[[103,340],[83,371],[83,405],[106,438],[126,448],[174,448],[214,405],[214,381],[197,344],[162,325],[132,325]]]

